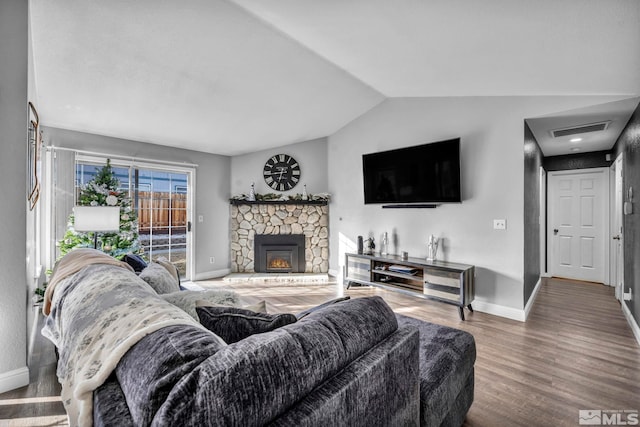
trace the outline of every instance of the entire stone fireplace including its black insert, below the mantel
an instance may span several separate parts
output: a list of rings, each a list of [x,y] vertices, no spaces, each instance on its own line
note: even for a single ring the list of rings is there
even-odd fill
[[[232,272],[329,271],[327,202],[232,201],[230,217]]]

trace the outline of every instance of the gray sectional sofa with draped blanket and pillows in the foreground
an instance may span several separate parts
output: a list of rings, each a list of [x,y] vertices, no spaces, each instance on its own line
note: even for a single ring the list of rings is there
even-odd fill
[[[473,402],[464,331],[380,297],[270,317],[228,290],[160,295],[171,268],[152,267],[93,249],[56,265],[42,333],[72,427],[459,426]]]

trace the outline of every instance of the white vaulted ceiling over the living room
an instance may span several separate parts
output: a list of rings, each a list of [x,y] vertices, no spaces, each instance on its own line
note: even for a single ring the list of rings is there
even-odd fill
[[[45,125],[224,155],[331,135],[388,97],[640,95],[636,0],[31,0],[30,14]]]

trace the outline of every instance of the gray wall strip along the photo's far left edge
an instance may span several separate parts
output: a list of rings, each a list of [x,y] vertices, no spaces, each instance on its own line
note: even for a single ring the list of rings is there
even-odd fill
[[[24,0],[0,2],[0,393],[29,382],[25,219],[27,5]]]

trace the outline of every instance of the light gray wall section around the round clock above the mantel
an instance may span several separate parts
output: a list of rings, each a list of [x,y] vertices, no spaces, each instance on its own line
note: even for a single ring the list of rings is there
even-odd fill
[[[256,193],[278,193],[262,176],[265,162],[275,154],[288,154],[300,163],[300,183],[284,194],[302,193],[304,184],[309,193],[327,191],[327,139],[320,138],[232,157],[231,194],[248,194],[252,182]]]

